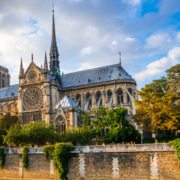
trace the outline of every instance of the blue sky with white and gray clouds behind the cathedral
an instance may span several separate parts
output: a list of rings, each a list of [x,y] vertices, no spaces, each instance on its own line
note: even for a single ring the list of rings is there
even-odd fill
[[[138,89],[180,63],[180,0],[0,0],[0,65],[18,84],[49,55],[54,2],[60,70],[64,74],[119,63]],[[49,56],[48,56],[49,60]]]

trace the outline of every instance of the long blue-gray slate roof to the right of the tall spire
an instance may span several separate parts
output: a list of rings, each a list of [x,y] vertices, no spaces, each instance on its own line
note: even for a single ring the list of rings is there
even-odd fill
[[[133,78],[119,64],[114,64],[65,74],[62,77],[62,87],[67,88],[117,79],[133,80]]]

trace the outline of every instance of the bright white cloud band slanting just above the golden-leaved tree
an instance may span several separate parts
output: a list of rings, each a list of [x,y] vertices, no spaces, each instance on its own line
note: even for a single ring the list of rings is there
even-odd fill
[[[175,47],[168,52],[167,57],[150,63],[144,70],[134,75],[138,82],[152,79],[155,75],[164,73],[168,68],[180,63],[180,47]]]

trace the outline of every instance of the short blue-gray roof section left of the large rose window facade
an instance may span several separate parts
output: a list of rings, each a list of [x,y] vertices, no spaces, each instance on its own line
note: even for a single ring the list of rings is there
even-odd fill
[[[0,89],[0,99],[12,98],[18,96],[19,85],[12,85],[7,88]]]

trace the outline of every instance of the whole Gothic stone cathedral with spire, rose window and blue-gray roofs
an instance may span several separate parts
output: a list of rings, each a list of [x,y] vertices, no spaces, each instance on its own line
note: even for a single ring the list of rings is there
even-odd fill
[[[52,42],[48,59],[38,67],[31,63],[24,70],[21,59],[19,84],[10,86],[7,68],[0,66],[0,116],[17,115],[21,124],[36,120],[54,122],[59,132],[81,124],[81,112],[117,106],[127,109],[127,118],[135,113],[136,81],[121,66],[109,66],[61,74],[56,43],[54,10]]]

